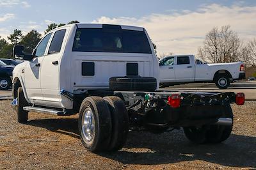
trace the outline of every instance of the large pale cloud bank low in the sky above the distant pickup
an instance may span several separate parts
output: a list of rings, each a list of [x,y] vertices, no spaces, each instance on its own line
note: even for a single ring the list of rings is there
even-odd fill
[[[197,54],[204,37],[214,26],[230,25],[242,40],[256,37],[256,6],[221,6],[211,4],[198,10],[170,14],[152,14],[141,18],[106,16],[93,20],[93,23],[126,24],[143,26],[152,41],[157,45],[159,54]]]

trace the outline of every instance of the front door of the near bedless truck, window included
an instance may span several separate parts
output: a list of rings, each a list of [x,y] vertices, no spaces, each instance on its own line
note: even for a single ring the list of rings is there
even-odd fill
[[[35,58],[32,61],[28,61],[24,70],[25,77],[25,87],[26,93],[31,102],[36,103],[37,100],[43,100],[41,84],[40,84],[40,71],[42,61],[44,60],[45,50],[47,49],[47,44],[51,38],[51,33],[46,35],[41,42],[36,47]]]

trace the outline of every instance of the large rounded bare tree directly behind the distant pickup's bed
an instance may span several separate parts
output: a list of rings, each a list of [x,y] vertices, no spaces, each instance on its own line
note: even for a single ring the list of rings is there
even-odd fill
[[[211,63],[238,61],[243,43],[230,26],[214,27],[207,33],[204,47],[198,48],[198,56]]]

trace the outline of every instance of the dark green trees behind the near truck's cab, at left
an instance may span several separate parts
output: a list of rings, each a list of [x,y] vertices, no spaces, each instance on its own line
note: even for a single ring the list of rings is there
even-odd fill
[[[72,20],[67,24],[79,23],[77,20]],[[56,27],[65,26],[65,24],[52,23],[47,26],[44,33],[48,33]],[[38,42],[42,38],[42,34],[38,33],[35,29],[29,31],[26,35],[22,35],[22,31],[19,29],[14,29],[10,36],[7,36],[9,42],[0,36],[0,58],[12,58],[12,49],[14,45],[21,44],[24,45],[25,53],[31,54],[33,49],[35,49]]]

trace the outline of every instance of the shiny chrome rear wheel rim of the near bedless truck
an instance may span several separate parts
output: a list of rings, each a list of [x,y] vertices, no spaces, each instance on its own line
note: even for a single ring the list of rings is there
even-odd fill
[[[82,132],[85,140],[87,142],[92,141],[95,135],[95,121],[93,112],[91,110],[87,110],[82,119]]]

